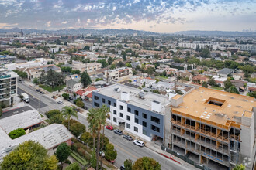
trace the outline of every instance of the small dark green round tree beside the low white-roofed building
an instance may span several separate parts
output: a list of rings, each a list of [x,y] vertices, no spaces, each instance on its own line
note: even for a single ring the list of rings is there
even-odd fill
[[[61,169],[63,162],[71,155],[71,148],[67,145],[67,143],[62,143],[57,146],[56,157],[61,162]]]

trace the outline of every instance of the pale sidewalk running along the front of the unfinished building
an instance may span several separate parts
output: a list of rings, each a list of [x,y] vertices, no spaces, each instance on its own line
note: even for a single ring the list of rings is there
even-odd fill
[[[184,166],[185,168],[188,168],[190,170],[198,170],[198,168],[195,168],[195,166],[189,164],[188,162],[183,161],[181,158],[175,157],[174,155],[171,155],[170,153],[168,153],[167,151],[163,151],[161,149],[161,145],[157,145],[154,143],[154,141],[148,141],[145,143],[145,147],[149,148],[152,151],[157,152],[158,154],[163,154],[163,155],[167,155],[168,157],[174,158],[175,161],[180,162],[182,166]],[[164,156],[163,156],[164,157]],[[171,160],[171,159],[170,159]],[[173,160],[171,160],[173,161]],[[173,162],[175,162],[173,161]]]

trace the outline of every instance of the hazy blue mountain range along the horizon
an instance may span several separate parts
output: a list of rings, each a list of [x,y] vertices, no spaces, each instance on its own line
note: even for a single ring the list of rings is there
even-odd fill
[[[5,32],[20,32],[21,29],[0,29],[0,33]],[[226,31],[182,31],[171,33],[157,33],[157,32],[147,32],[134,29],[58,29],[58,30],[43,30],[43,29],[22,29],[25,34],[28,33],[40,33],[40,34],[56,34],[56,35],[134,35],[138,36],[163,36],[163,35],[185,35],[185,36],[251,36],[256,37],[256,32],[226,32]]]

